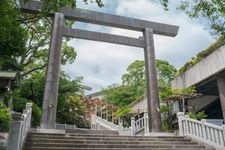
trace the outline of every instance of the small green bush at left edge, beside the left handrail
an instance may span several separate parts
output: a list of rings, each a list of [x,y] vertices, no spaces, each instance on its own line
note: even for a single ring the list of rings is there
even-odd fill
[[[9,109],[0,102],[0,131],[8,132],[12,121],[12,116]]]

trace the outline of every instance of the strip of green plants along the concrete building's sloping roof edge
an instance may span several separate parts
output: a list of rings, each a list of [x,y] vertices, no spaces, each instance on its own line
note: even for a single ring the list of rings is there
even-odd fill
[[[192,57],[191,61],[187,62],[183,67],[181,67],[178,71],[178,74],[182,74],[187,71],[189,68],[209,56],[215,50],[220,48],[221,46],[225,45],[225,36],[221,36],[215,43],[210,45],[207,49],[201,51],[196,55],[196,57]]]

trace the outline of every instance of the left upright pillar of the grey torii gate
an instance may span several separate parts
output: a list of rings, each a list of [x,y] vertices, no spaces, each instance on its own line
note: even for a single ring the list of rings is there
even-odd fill
[[[42,104],[41,128],[45,129],[55,128],[63,28],[64,15],[61,13],[55,13]]]

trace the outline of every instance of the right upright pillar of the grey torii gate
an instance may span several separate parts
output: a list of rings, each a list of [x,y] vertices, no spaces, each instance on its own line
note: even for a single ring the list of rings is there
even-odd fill
[[[155,49],[153,40],[153,30],[144,30],[145,38],[145,71],[147,81],[147,102],[148,102],[148,121],[150,132],[161,131],[161,116],[159,112],[159,91],[155,65]]]

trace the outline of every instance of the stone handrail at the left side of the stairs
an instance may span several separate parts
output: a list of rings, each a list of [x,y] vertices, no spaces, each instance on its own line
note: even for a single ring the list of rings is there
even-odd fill
[[[26,108],[21,113],[12,113],[7,150],[21,150],[30,129],[32,116],[32,103],[27,103]]]

